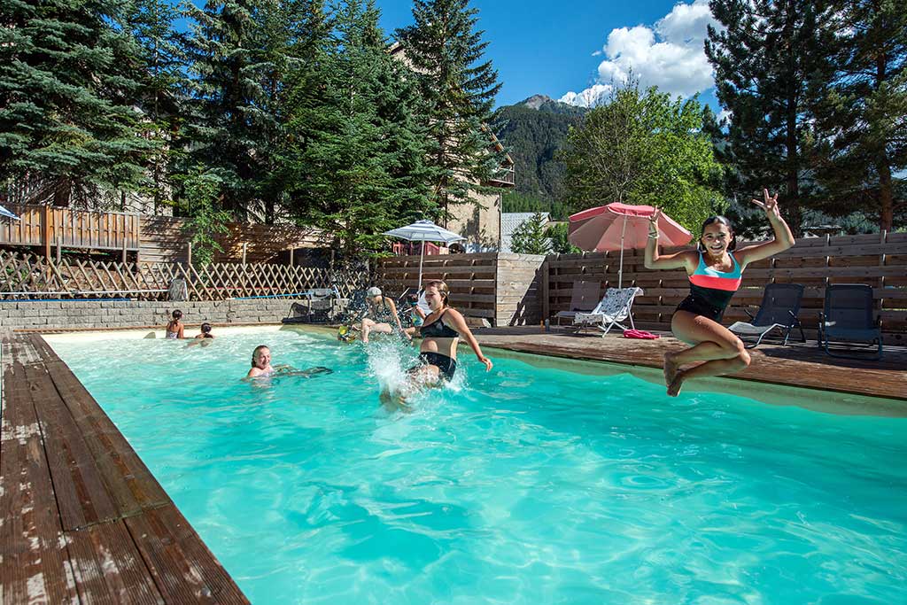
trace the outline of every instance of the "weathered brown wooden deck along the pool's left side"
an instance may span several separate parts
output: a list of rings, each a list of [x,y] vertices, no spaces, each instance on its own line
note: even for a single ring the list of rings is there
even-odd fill
[[[3,338],[0,600],[248,603],[44,338]]]

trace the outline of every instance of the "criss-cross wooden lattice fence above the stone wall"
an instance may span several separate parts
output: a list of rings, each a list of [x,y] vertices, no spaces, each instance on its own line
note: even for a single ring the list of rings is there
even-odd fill
[[[332,270],[266,263],[99,262],[0,250],[0,299],[138,298],[166,300],[174,279],[190,300],[287,296],[336,286],[342,296],[366,288],[368,268]]]

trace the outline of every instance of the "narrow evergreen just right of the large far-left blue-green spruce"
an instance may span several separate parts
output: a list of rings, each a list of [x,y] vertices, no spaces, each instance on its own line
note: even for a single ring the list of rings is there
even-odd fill
[[[171,158],[181,151],[180,129],[188,111],[185,36],[174,29],[180,12],[167,0],[132,0],[127,10],[129,28],[139,46],[136,104],[144,114],[142,136],[155,143],[149,158],[151,182],[145,192],[151,195],[157,214],[171,200]]]

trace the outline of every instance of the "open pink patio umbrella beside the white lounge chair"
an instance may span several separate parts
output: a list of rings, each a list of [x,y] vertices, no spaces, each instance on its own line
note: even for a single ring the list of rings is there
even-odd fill
[[[582,210],[570,217],[571,244],[584,250],[604,252],[620,250],[618,288],[623,288],[623,251],[645,248],[649,241],[649,218],[652,206],[631,206],[619,201]],[[658,243],[683,246],[693,234],[664,212],[658,219]]]

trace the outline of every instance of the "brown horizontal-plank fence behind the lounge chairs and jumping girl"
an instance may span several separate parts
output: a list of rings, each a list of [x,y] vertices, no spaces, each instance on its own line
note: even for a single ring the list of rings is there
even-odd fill
[[[574,281],[597,279],[602,292],[603,288],[617,288],[619,253],[555,255],[548,257],[546,267],[542,314],[551,317],[569,307]],[[808,330],[817,327],[825,286],[868,284],[875,293],[885,342],[907,344],[907,233],[800,239],[794,248],[746,268],[724,323],[748,320],[744,307],[759,304],[766,283],[805,286],[800,321]],[[633,317],[660,329],[669,327],[675,307],[689,293],[683,269],[647,269],[643,250],[624,252],[623,285],[638,286],[645,292],[636,298]]]

